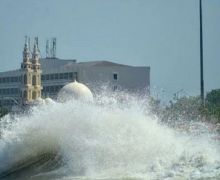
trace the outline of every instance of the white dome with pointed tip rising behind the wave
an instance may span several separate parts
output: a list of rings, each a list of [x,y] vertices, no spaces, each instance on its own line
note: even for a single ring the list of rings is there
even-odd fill
[[[64,102],[71,99],[93,101],[93,95],[86,85],[74,81],[65,85],[58,93],[59,101]]]

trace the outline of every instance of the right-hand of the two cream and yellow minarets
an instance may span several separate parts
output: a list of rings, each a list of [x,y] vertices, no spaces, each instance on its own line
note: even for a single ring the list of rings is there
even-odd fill
[[[35,37],[34,40],[34,49],[32,53],[32,86],[33,86],[33,91],[32,91],[32,99],[36,100],[41,97],[41,65],[39,62],[40,59],[40,51],[38,48],[38,38]]]

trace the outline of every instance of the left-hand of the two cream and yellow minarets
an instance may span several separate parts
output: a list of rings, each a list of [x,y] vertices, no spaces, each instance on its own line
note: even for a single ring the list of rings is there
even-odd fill
[[[25,37],[25,45],[23,50],[23,62],[21,63],[21,98],[22,104],[32,101],[32,63],[30,61],[30,50],[28,38]]]

